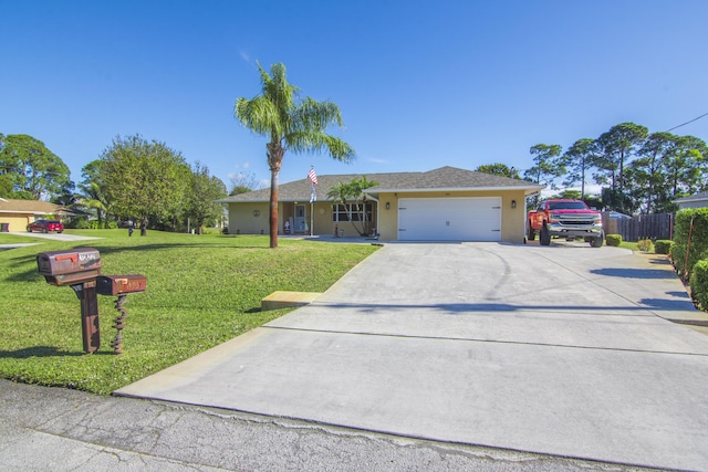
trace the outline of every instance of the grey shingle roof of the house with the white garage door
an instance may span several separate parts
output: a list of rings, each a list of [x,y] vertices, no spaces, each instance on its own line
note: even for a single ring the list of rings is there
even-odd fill
[[[366,189],[366,193],[376,196],[383,192],[414,192],[414,191],[460,191],[460,190],[524,190],[527,195],[535,193],[544,188],[525,180],[493,176],[458,169],[456,167],[440,167],[427,172],[391,172],[391,174],[346,174],[317,176],[315,186],[317,197],[323,199],[337,182],[350,182],[354,178],[366,176],[368,180],[378,182]],[[312,185],[309,179],[295,180],[278,186],[279,201],[310,200]],[[220,203],[239,201],[269,201],[270,189],[254,190],[239,193],[221,200]]]

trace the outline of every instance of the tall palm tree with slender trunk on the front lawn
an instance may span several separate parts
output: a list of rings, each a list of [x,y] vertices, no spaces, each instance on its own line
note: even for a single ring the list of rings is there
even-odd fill
[[[235,115],[241,125],[270,139],[266,145],[270,168],[270,247],[278,248],[278,176],[285,150],[294,154],[326,150],[344,162],[355,155],[344,140],[325,133],[332,125],[344,125],[339,106],[310,97],[299,102],[299,88],[288,83],[282,63],[273,64],[270,74],[260,63],[258,69],[261,95],[238,98]]]

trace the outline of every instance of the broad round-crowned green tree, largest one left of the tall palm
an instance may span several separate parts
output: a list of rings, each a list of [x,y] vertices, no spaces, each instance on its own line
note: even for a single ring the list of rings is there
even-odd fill
[[[107,200],[116,214],[140,222],[140,235],[150,217],[171,217],[183,204],[189,166],[164,143],[117,136],[101,160]]]

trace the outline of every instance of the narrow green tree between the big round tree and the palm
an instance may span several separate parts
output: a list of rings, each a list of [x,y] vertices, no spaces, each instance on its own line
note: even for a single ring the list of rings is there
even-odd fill
[[[187,218],[196,221],[198,234],[204,231],[205,221],[216,220],[222,212],[221,203],[215,200],[226,197],[226,186],[209,168],[196,162],[191,169],[191,185],[187,193]]]

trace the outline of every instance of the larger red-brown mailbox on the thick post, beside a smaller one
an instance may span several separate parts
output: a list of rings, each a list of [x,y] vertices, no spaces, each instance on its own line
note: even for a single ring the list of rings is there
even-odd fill
[[[93,248],[50,251],[37,254],[37,268],[52,285],[75,285],[101,274],[101,254]]]

